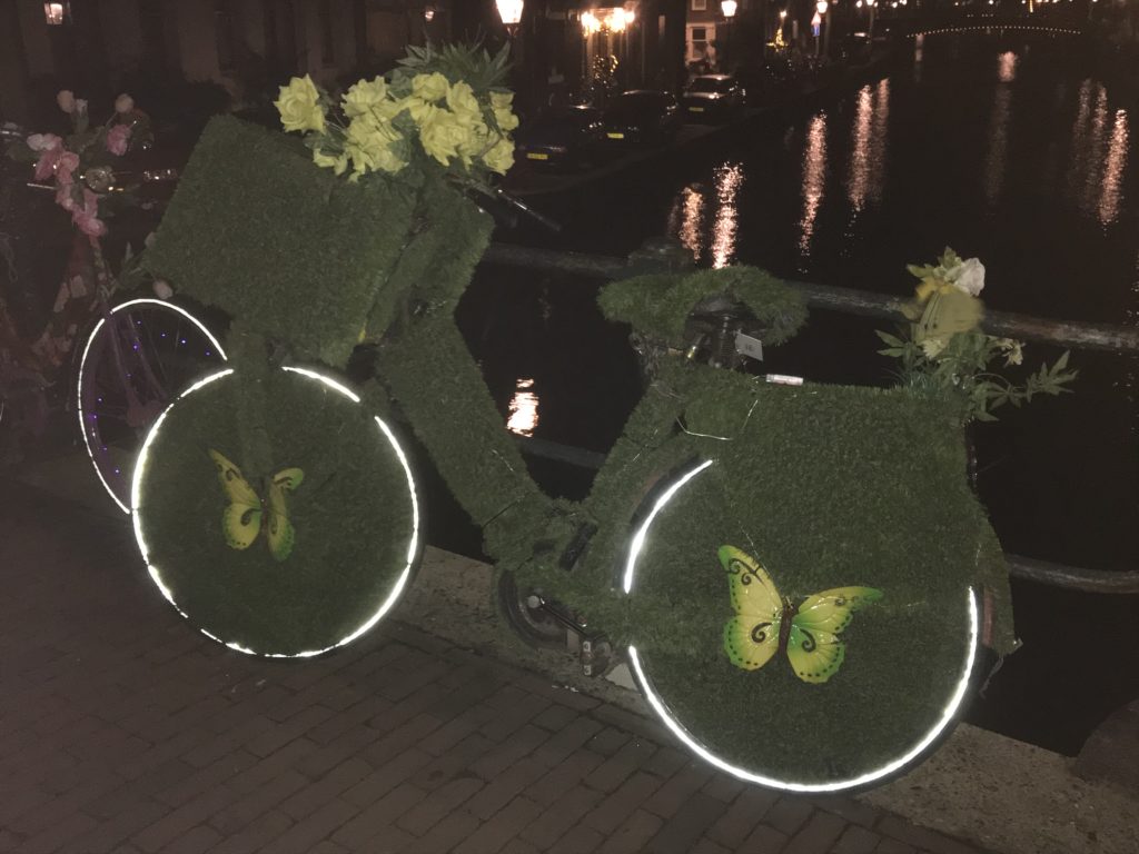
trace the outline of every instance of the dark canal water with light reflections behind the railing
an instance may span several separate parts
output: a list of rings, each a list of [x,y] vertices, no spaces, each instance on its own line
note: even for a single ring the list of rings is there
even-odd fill
[[[698,151],[531,199],[565,224],[499,239],[624,255],[667,235],[702,265],[899,295],[945,246],[986,269],[985,303],[1044,318],[1139,319],[1139,105],[1068,36],[940,34],[880,80],[817,96]],[[626,330],[596,288],[487,269],[460,323],[511,429],[605,451],[639,394]],[[880,322],[819,313],[769,370],[888,384]],[[1025,363],[1059,351],[1025,348]],[[980,492],[1007,551],[1139,568],[1134,358],[1079,352],[1074,394],[980,425]],[[588,478],[535,463],[551,490]],[[967,718],[1074,754],[1139,698],[1139,597],[1014,586],[1024,647]]]

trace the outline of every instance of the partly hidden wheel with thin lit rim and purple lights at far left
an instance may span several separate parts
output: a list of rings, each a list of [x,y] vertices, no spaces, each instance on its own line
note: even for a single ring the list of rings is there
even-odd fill
[[[146,432],[195,378],[226,361],[205,325],[162,299],[121,303],[99,318],[75,381],[80,434],[95,474],[123,512]]]

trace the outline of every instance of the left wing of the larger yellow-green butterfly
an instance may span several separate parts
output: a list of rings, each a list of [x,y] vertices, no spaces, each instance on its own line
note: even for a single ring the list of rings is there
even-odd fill
[[[759,670],[779,649],[782,600],[771,576],[749,555],[734,545],[721,545],[719,556],[736,610],[723,626],[723,649],[737,667]]]

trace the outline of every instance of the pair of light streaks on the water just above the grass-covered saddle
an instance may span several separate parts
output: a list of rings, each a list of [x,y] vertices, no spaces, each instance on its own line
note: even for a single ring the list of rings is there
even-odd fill
[[[680,191],[669,214],[669,231],[699,261],[710,256],[712,266],[728,266],[736,258],[736,233],[739,222],[739,190],[744,186],[744,166],[726,163],[712,173],[711,190],[706,184],[689,184]],[[713,213],[714,212],[714,213]],[[711,233],[705,224],[712,216]]]

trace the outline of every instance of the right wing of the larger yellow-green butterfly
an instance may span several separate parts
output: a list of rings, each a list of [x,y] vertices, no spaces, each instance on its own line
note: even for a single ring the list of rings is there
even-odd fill
[[[795,675],[821,684],[838,672],[846,644],[838,639],[854,611],[882,599],[875,588],[834,588],[808,597],[790,619],[787,658]]]

